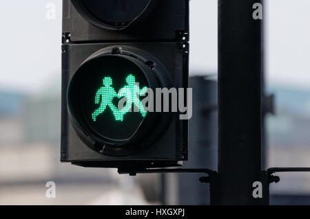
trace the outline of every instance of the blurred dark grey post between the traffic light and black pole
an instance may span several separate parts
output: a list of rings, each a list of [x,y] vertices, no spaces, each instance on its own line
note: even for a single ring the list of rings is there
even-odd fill
[[[194,76],[189,79],[193,89],[193,117],[189,120],[189,161],[183,168],[217,170],[218,161],[218,86],[216,74]],[[166,202],[176,205],[209,205],[209,183],[200,183],[204,174],[171,174],[167,181]],[[174,183],[169,179],[175,177]],[[169,191],[176,187],[176,198]],[[175,203],[172,203],[175,201]]]

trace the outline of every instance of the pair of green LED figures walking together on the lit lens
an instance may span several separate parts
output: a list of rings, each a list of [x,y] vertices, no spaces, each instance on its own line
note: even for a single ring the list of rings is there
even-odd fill
[[[116,121],[123,121],[124,115],[130,112],[132,108],[132,104],[138,107],[139,112],[143,117],[147,114],[142,102],[139,100],[141,95],[145,95],[147,92],[147,87],[143,87],[143,89],[139,89],[138,85],[136,84],[136,78],[130,74],[126,78],[127,85],[123,87],[118,93],[112,87],[112,78],[105,77],[103,78],[103,87],[101,87],[95,96],[95,104],[100,104],[99,108],[92,113],[92,120],[96,122],[96,117],[99,116],[101,113],[105,111],[107,106],[109,106],[113,112],[113,115]],[[114,97],[126,97],[126,105],[121,109],[118,110],[116,106],[113,104]]]

